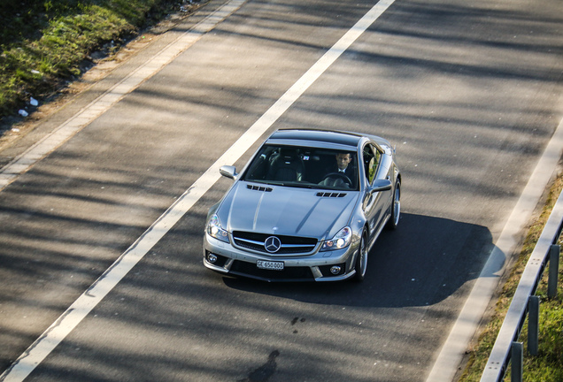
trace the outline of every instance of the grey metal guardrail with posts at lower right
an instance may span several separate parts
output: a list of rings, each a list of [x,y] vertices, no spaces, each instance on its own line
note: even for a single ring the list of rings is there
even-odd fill
[[[512,361],[512,381],[522,380],[522,344],[518,342],[522,325],[528,316],[528,352],[537,354],[539,297],[535,296],[545,265],[550,262],[548,295],[557,293],[559,270],[559,245],[555,245],[563,228],[563,192],[551,211],[536,248],[532,252],[522,273],[521,281],[513,297],[505,321],[498,332],[497,340],[490,352],[489,361],[482,373],[481,382],[501,382],[505,378],[508,364]]]

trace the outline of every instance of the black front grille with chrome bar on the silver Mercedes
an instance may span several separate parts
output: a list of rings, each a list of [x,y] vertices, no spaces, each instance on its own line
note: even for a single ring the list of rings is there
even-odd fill
[[[271,236],[277,237],[282,242],[282,247],[272,255],[307,254],[312,252],[317,245],[317,239],[314,238],[273,235],[270,233],[233,232],[233,239],[237,247],[252,249],[263,253],[270,253],[266,251],[264,242]]]

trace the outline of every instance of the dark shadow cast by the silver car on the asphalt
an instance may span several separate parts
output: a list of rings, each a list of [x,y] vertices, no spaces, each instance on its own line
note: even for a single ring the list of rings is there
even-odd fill
[[[359,307],[432,305],[459,293],[479,277],[494,245],[487,227],[447,218],[401,216],[369,253],[361,282],[266,283],[223,277],[227,287],[291,300]],[[499,251],[497,251],[499,252]],[[505,258],[496,264],[502,266]],[[490,270],[486,277],[497,277]]]

